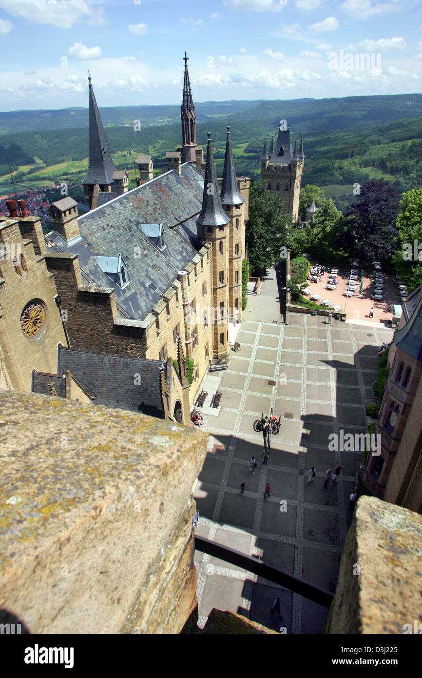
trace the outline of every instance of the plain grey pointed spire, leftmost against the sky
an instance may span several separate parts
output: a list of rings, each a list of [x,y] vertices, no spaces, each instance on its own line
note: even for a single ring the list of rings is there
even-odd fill
[[[85,199],[92,204],[93,187],[98,182],[102,193],[114,191],[113,174],[116,171],[111,159],[106,133],[102,124],[100,111],[93,93],[91,77],[89,80],[89,159],[88,171],[82,182]]]

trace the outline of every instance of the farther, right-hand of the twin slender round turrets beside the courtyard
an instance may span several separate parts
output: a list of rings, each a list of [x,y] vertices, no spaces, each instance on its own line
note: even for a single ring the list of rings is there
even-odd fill
[[[230,218],[228,237],[228,308],[231,322],[242,319],[242,262],[245,258],[245,200],[240,195],[230,127],[227,127],[226,155],[221,182],[221,205]]]

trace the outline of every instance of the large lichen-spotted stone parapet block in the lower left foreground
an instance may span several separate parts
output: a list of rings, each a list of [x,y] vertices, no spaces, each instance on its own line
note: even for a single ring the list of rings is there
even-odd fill
[[[180,633],[207,436],[35,394],[0,412],[0,607],[32,633]]]

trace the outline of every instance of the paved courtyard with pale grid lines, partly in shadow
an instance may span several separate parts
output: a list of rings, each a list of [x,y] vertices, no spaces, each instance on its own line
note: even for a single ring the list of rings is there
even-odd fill
[[[274,272],[273,272],[274,273]],[[356,483],[360,452],[330,452],[330,433],[364,433],[364,397],[372,397],[381,342],[392,331],[375,323],[359,325],[290,314],[280,319],[274,277],[263,296],[249,298],[238,334],[240,351],[219,386],[217,416],[206,416],[208,454],[194,496],[200,513],[196,534],[260,555],[281,570],[335,591],[341,551],[352,513],[349,494]],[[266,296],[266,292],[268,296]],[[258,319],[259,318],[259,319]],[[261,463],[262,434],[253,431],[261,412],[281,415],[272,437],[268,465]],[[249,459],[258,466],[251,474]],[[327,468],[343,465],[337,486],[324,490]],[[308,485],[310,466],[315,483]],[[240,483],[246,481],[245,494]],[[263,500],[266,483],[271,496]],[[280,502],[287,501],[287,511]],[[196,551],[199,625],[212,607],[233,610],[287,633],[321,633],[328,610],[280,589],[250,572]],[[282,620],[270,615],[275,597]]]

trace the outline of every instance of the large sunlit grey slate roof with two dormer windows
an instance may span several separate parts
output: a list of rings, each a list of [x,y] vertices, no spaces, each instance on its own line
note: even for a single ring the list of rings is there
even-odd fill
[[[123,290],[114,287],[116,300],[130,317],[144,320],[161,299],[160,292],[164,294],[171,286],[169,280],[174,281],[201,248],[196,218],[201,212],[203,188],[202,170],[194,163],[184,163],[180,174],[172,169],[80,216],[82,239],[78,243],[68,246],[56,231],[51,231],[51,249],[78,254],[85,284],[89,277],[100,287],[114,287],[114,282],[103,273],[96,256],[121,253],[129,285]],[[144,235],[140,226],[160,222],[163,250]],[[149,286],[150,282],[156,289]]]

